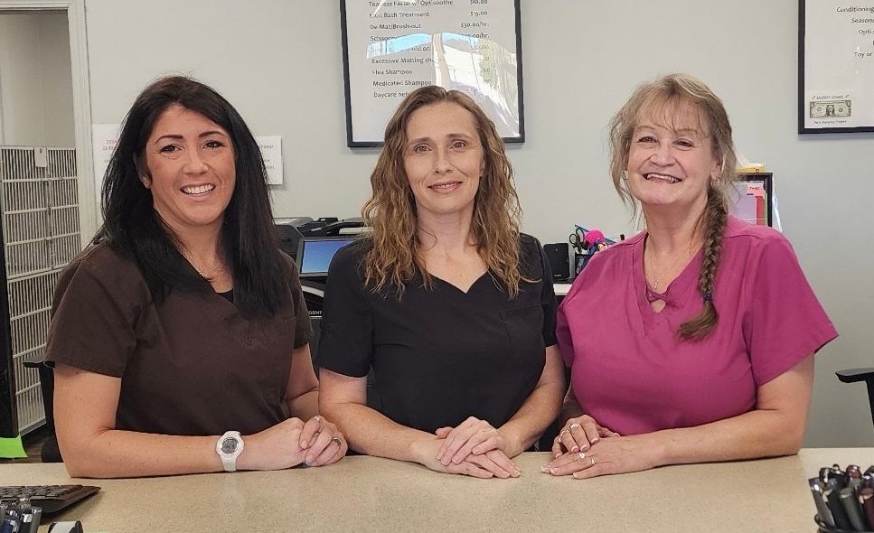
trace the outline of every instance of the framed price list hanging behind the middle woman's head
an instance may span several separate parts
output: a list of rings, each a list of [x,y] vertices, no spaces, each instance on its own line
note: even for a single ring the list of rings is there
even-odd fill
[[[475,99],[508,143],[525,140],[520,0],[341,0],[346,144],[381,146],[409,92]]]

